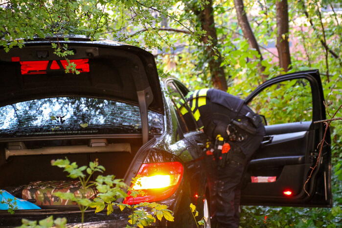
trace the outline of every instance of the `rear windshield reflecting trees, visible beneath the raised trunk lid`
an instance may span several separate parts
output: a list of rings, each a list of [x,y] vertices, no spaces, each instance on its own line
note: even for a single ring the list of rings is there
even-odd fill
[[[163,115],[149,111],[149,132],[163,131]],[[139,107],[98,98],[58,97],[0,107],[0,137],[141,133]]]

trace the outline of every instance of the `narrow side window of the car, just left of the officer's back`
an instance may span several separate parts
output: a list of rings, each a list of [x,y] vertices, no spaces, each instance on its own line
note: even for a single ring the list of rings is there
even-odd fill
[[[182,129],[182,132],[187,133],[189,131],[195,131],[196,124],[195,124],[195,120],[191,111],[186,112],[187,113],[186,115],[184,113],[185,110],[190,110],[190,107],[184,101],[184,97],[181,95],[181,93],[179,92],[178,88],[176,87],[174,83],[168,83],[167,89],[168,89],[168,96],[171,98],[174,104],[174,107],[177,113],[178,122]]]

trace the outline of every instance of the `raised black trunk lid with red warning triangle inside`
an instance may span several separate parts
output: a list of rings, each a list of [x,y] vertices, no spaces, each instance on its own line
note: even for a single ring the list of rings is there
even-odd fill
[[[163,113],[151,53],[114,41],[60,41],[74,51],[68,59],[81,72],[66,74],[65,58],[53,54],[51,42],[56,41],[28,41],[23,48],[15,47],[7,53],[0,50],[0,106],[46,97],[83,96],[140,104],[140,109],[145,104]]]

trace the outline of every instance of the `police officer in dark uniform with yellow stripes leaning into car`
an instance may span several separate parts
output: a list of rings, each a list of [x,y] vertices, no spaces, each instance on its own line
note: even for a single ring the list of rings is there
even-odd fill
[[[265,135],[262,120],[242,99],[218,89],[189,92],[185,99],[188,105],[178,104],[183,117],[191,112],[208,137],[205,163],[214,220],[220,228],[237,228],[241,180]]]

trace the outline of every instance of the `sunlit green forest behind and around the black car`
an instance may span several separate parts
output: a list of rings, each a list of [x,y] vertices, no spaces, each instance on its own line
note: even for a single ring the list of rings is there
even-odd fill
[[[137,45],[155,55],[161,78],[241,98],[277,75],[319,69],[327,118],[341,117],[341,0],[0,0],[5,50],[70,34]],[[296,90],[285,92],[296,100]],[[290,120],[284,90],[272,96],[274,121]],[[334,207],[243,207],[241,227],[341,227],[341,121],[331,133]]]

